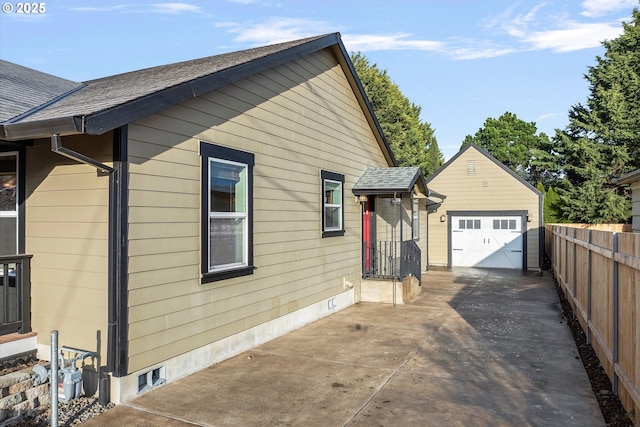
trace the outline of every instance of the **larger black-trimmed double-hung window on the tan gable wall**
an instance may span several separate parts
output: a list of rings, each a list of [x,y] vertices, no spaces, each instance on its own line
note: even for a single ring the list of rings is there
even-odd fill
[[[252,274],[254,155],[200,143],[202,282]]]

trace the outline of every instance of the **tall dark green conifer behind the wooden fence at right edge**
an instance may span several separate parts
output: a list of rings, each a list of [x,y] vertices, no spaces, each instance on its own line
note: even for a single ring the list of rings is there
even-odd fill
[[[586,104],[569,111],[569,125],[556,131],[561,155],[560,205],[573,222],[621,222],[629,217],[629,195],[610,185],[640,168],[640,13],[633,11],[623,34],[603,42],[585,78]]]

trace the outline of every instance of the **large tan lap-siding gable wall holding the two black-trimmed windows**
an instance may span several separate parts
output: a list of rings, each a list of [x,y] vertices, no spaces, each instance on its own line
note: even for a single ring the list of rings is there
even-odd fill
[[[253,275],[200,284],[200,141],[255,154]],[[129,372],[359,286],[351,188],[388,164],[330,51],[133,123],[129,150]],[[341,237],[321,170],[345,176]]]

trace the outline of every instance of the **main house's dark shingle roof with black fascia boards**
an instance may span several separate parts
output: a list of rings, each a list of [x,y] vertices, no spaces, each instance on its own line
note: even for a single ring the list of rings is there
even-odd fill
[[[339,33],[146,68],[82,84],[49,76],[51,83],[45,87],[59,89],[54,91],[41,90],[38,82],[46,75],[30,70],[22,82],[7,87],[1,94],[0,102],[7,105],[6,119],[13,120],[0,121],[0,140],[22,141],[52,134],[100,135],[325,48],[331,48],[336,54],[354,85],[354,93],[363,100],[363,111],[372,118],[385,157],[390,164],[395,164]],[[19,105],[20,87],[38,98]],[[25,111],[28,113],[24,114]]]

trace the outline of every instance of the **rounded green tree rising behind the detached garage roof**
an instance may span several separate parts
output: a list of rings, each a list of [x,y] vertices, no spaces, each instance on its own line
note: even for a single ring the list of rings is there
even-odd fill
[[[462,147],[473,142],[531,185],[542,182],[550,186],[556,180],[558,160],[549,137],[537,131],[534,122],[520,120],[507,111],[497,119],[485,120],[474,136],[466,136]]]

